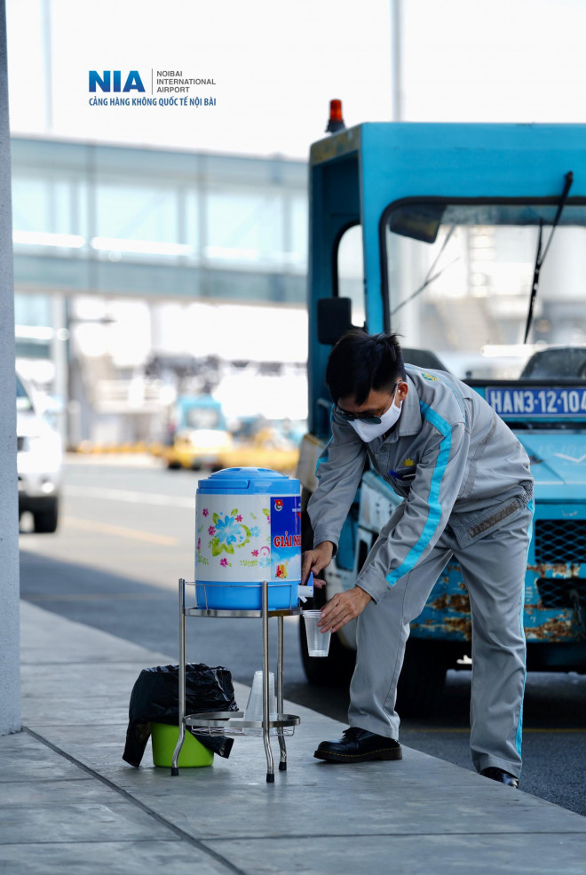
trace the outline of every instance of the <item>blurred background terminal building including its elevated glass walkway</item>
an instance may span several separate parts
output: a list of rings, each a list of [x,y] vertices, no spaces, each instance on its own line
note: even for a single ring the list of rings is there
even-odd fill
[[[234,369],[297,374],[304,415],[305,162],[19,137],[12,180],[17,360],[70,444],[153,439]]]

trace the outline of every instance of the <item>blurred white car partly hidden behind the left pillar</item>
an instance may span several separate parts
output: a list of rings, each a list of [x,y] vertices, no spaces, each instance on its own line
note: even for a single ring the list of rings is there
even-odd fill
[[[59,434],[41,415],[35,394],[16,378],[19,518],[33,514],[36,532],[54,532],[59,520],[63,449]]]

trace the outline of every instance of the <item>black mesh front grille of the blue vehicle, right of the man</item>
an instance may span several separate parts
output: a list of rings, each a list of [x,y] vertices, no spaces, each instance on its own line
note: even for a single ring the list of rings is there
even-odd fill
[[[586,599],[586,580],[566,568],[582,563],[586,563],[586,520],[535,521],[535,564],[561,566],[554,569],[555,577],[537,580],[543,608],[572,608],[573,590],[580,601]]]

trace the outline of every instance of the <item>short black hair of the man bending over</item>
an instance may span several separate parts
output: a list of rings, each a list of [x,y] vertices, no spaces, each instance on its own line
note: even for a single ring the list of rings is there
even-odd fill
[[[340,398],[353,398],[356,404],[363,404],[371,389],[391,389],[399,378],[405,379],[405,365],[395,334],[352,329],[329,354],[326,385],[335,403]]]

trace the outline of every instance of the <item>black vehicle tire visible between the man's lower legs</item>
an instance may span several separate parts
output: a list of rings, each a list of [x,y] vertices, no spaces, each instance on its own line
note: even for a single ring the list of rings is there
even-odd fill
[[[408,640],[397,686],[401,717],[432,717],[440,711],[447,664],[440,641]]]

